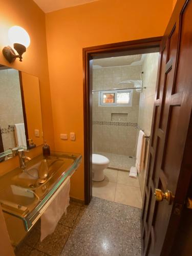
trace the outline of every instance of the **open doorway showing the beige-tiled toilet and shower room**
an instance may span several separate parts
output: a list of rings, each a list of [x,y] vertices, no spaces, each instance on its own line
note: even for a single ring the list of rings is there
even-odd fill
[[[158,59],[159,52],[93,59],[94,197],[142,207]],[[144,146],[137,175],[140,130]]]

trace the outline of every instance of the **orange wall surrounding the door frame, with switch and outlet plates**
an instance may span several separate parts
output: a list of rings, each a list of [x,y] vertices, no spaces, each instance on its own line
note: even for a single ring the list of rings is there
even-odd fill
[[[82,48],[161,36],[172,8],[172,0],[100,0],[46,14],[56,150],[83,155]],[[60,140],[60,133],[70,132],[75,142]],[[83,164],[71,196],[83,199]]]

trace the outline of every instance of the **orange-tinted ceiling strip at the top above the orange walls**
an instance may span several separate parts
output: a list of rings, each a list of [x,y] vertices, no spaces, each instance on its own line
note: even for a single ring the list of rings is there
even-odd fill
[[[45,13],[77,5],[83,5],[98,0],[33,0]]]

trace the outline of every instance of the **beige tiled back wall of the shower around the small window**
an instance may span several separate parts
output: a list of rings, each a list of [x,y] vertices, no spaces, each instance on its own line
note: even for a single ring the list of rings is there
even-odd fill
[[[102,71],[101,71],[102,70]],[[93,89],[111,89],[133,87],[133,84],[118,84],[120,81],[140,79],[141,66],[112,67],[93,71]],[[110,122],[112,113],[127,114],[126,122],[138,123],[140,94],[133,91],[133,105],[131,107],[98,106],[98,93],[93,95],[93,121]],[[102,126],[102,129],[101,127]],[[137,131],[132,126],[109,124],[93,125],[94,151],[110,152],[114,154],[133,155]],[[132,146],[132,148],[131,148]]]

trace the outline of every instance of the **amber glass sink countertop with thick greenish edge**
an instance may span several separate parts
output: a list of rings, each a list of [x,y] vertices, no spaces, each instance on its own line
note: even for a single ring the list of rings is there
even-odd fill
[[[42,209],[51,201],[55,191],[81,162],[80,154],[51,152],[47,160],[45,180],[39,177],[44,157],[33,158],[25,170],[16,168],[0,177],[0,203],[7,214],[24,221],[28,231],[40,218]],[[42,169],[41,169],[42,170]]]

